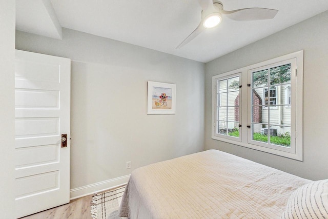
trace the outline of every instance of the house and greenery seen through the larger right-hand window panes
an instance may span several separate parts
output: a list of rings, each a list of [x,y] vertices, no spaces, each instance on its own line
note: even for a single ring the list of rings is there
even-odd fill
[[[291,147],[291,110],[286,109],[285,92],[291,86],[291,64],[250,71],[252,78],[252,140],[253,144],[268,143]],[[268,92],[269,91],[269,92]],[[260,95],[262,93],[262,95]],[[263,101],[258,101],[263,96]],[[290,105],[289,105],[290,106]],[[261,107],[261,116],[258,108]],[[268,147],[269,145],[262,145]]]

